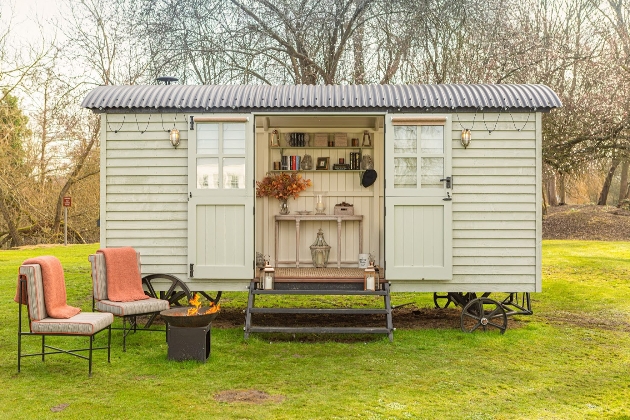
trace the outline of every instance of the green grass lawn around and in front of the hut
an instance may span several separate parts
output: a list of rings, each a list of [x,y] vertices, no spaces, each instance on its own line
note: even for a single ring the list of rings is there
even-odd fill
[[[45,363],[23,359],[18,374],[13,297],[19,265],[32,256],[57,256],[68,303],[88,311],[87,256],[97,248],[0,251],[1,418],[630,419],[627,242],[544,242],[544,291],[532,294],[534,315],[518,317],[521,327],[505,335],[465,334],[453,326],[398,329],[393,343],[325,335],[308,342],[253,335],[246,342],[240,328],[215,328],[204,364],[168,361],[160,333],[132,336],[123,353],[114,331],[112,362],[96,352],[92,378],[87,362],[64,355]],[[223,305],[243,305],[243,294],[224,296]],[[430,294],[413,299],[432,305]],[[40,340],[25,342],[35,352]],[[215,399],[245,390],[269,398]]]

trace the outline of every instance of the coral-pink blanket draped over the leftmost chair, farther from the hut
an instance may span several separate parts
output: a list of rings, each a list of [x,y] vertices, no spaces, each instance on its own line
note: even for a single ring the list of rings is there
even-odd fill
[[[72,318],[79,312],[80,308],[69,306],[66,303],[66,281],[63,276],[61,262],[53,256],[30,258],[22,264],[39,264],[42,269],[42,284],[44,287],[44,303],[46,312],[51,318]],[[18,281],[15,301],[19,302],[20,283]],[[26,303],[26,296],[22,295],[23,302]]]

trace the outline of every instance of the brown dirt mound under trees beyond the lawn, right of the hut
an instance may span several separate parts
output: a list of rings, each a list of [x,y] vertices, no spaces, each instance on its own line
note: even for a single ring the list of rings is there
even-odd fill
[[[612,206],[548,207],[543,239],[630,241],[630,211]]]

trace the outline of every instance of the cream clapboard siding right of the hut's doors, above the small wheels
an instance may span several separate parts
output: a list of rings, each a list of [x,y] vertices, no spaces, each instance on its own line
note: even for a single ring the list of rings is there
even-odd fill
[[[459,114],[454,121],[453,280],[442,290],[535,291],[536,115]],[[462,126],[472,127],[467,149],[459,143]]]

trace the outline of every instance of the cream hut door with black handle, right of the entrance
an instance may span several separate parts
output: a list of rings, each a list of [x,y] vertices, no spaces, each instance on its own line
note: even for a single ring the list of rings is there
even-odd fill
[[[391,116],[385,127],[388,280],[451,280],[451,120]]]

